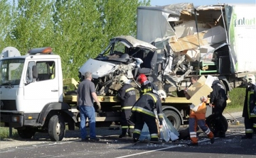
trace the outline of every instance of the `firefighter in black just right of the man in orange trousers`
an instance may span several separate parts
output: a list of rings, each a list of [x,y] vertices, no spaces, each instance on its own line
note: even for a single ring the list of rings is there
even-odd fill
[[[215,137],[225,137],[225,125],[221,118],[223,118],[223,111],[227,106],[228,96],[225,94],[223,85],[220,84],[218,77],[214,77],[213,91],[210,93],[210,106],[213,107],[213,115],[215,118]]]

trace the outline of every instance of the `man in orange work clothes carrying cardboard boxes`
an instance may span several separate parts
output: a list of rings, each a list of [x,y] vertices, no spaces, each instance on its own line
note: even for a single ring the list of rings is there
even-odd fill
[[[191,84],[195,84],[198,79],[198,76],[191,77]],[[190,99],[191,96],[188,95],[187,91],[187,88],[184,89],[184,94],[187,99]],[[189,135],[192,142],[188,144],[188,146],[198,146],[198,135],[196,135],[198,126],[201,128],[201,130],[203,130],[203,132],[206,133],[208,138],[210,138],[211,144],[215,142],[213,132],[211,132],[210,128],[208,128],[208,125],[206,125],[206,102],[208,98],[206,96],[202,96],[200,99],[202,103],[201,106],[198,107],[198,110],[193,111],[191,108],[189,113]]]

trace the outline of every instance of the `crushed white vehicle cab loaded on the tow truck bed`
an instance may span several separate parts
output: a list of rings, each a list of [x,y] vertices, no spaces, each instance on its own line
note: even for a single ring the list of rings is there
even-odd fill
[[[79,69],[80,80],[85,72],[92,72],[92,81],[98,96],[114,96],[121,87],[117,83],[119,76],[124,74],[132,79],[132,84],[139,73],[152,73],[156,62],[156,47],[129,35],[121,35],[110,40],[95,59],[89,59]]]

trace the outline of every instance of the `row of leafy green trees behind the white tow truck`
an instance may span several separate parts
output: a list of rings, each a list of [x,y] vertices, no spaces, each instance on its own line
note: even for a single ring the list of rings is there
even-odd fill
[[[63,76],[77,79],[78,69],[118,35],[136,37],[137,7],[150,0],[0,0],[0,50],[16,47],[21,55],[52,47],[60,55]]]

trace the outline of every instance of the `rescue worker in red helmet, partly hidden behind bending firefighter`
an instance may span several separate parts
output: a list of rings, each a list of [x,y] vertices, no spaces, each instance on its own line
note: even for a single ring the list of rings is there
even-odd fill
[[[142,96],[142,94],[145,94],[147,92],[152,93],[153,89],[158,91],[156,85],[154,83],[151,83],[151,81],[149,81],[146,78],[145,74],[139,74],[137,81],[139,81],[139,83],[141,84],[141,91],[139,92],[140,96]]]

